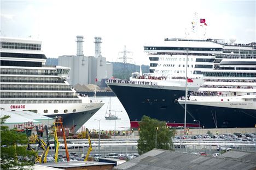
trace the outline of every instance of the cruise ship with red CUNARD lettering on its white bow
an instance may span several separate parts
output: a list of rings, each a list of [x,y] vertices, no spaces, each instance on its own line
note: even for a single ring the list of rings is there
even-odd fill
[[[55,118],[77,131],[103,105],[80,96],[66,81],[68,67],[46,66],[42,42],[1,37],[1,109],[29,110]]]

